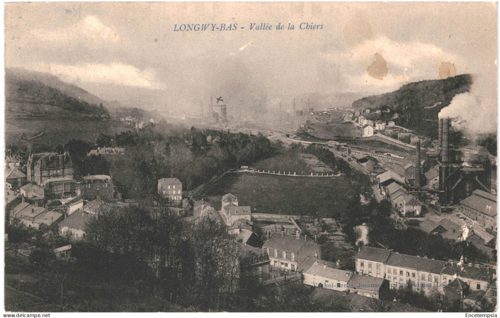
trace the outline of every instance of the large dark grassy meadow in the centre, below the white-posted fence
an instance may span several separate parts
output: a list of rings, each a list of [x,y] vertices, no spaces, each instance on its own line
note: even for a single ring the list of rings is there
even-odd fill
[[[354,189],[332,178],[228,173],[205,195],[228,192],[238,197],[239,205],[250,205],[252,212],[332,217],[346,209]]]

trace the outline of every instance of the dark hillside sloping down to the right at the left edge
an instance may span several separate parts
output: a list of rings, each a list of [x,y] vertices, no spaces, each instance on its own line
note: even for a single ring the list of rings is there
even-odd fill
[[[21,68],[5,70],[6,117],[108,119],[105,101],[57,77]]]

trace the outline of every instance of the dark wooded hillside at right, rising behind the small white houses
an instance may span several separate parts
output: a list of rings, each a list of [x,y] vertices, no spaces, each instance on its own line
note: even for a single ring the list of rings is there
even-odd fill
[[[352,107],[388,108],[390,113],[386,113],[381,119],[388,120],[396,112],[399,115],[394,120],[396,125],[436,138],[437,114],[449,105],[453,96],[468,92],[471,84],[472,76],[469,74],[414,82],[403,85],[394,92],[358,99],[352,103]]]

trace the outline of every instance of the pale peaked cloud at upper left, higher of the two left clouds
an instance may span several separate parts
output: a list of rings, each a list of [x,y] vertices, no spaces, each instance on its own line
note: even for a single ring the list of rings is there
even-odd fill
[[[120,36],[111,27],[102,23],[96,16],[87,15],[76,24],[65,25],[56,30],[35,28],[31,35],[41,41],[68,42],[73,40],[118,43]]]

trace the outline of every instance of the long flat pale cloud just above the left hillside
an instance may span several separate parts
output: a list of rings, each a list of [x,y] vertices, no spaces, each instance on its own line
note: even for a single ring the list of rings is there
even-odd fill
[[[70,83],[103,83],[151,89],[157,87],[151,71],[141,71],[132,65],[122,63],[79,65],[48,63],[35,64],[31,69],[53,74],[62,81]]]

